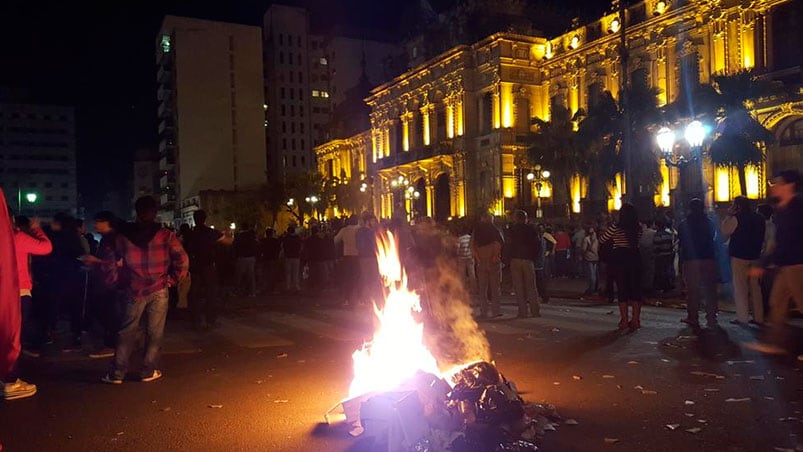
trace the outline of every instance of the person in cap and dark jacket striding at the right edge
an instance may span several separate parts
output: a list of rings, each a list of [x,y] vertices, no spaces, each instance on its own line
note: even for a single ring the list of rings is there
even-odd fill
[[[776,266],[775,280],[770,293],[770,329],[765,342],[748,344],[748,348],[763,353],[785,354],[786,316],[789,300],[803,310],[803,196],[800,194],[803,175],[796,170],[781,171],[772,181],[771,192],[777,200],[775,211],[775,248],[762,262]],[[761,277],[762,267],[751,269],[751,276]],[[798,351],[799,352],[799,351]],[[803,361],[803,355],[798,355]]]

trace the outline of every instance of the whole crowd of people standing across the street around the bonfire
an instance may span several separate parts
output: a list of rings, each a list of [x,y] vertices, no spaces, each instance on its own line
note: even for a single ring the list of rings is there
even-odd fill
[[[585,295],[618,303],[621,330],[641,327],[645,294],[680,286],[688,306],[683,322],[699,331],[702,308],[706,326],[716,329],[717,287],[732,278],[733,323],[769,326],[766,342],[750,346],[784,353],[789,300],[799,308],[803,304],[800,189],[799,172],[782,172],[771,186],[774,207],[762,204],[756,211],[739,197],[721,221],[694,199],[680,222],[666,213],[644,221],[626,203],[615,216],[574,225],[532,222],[522,210],[446,225],[426,217],[413,224],[400,218],[380,222],[365,212],[307,228],[290,225],[282,234],[272,228],[259,234],[255,225],[242,223],[233,234],[208,226],[203,210],[194,212],[192,227],[173,231],[157,222],[155,200],[143,197],[136,202],[134,222],[98,213],[98,242],[83,221],[66,215],[46,226],[17,216],[8,229],[14,263],[0,268],[16,269],[14,303],[21,316],[4,317],[0,310],[0,322],[19,322],[20,337],[9,340],[36,358],[53,343],[58,320],[66,318],[64,349],[113,358],[102,378],[110,384],[123,383],[144,330],[139,379],[153,381],[162,376],[159,354],[169,311],[187,308],[194,328],[206,331],[218,325],[229,295],[298,295],[302,288],[315,295],[337,289],[340,296],[332,292],[329,298],[343,306],[380,300],[376,243],[387,230],[396,237],[414,288],[426,292],[422,268],[447,262],[463,279],[480,318],[501,315],[503,289],[515,296],[518,317],[540,317],[541,303],[549,303],[550,281],[585,278]],[[36,392],[35,385],[19,378],[13,348],[7,368],[0,366],[6,399]]]

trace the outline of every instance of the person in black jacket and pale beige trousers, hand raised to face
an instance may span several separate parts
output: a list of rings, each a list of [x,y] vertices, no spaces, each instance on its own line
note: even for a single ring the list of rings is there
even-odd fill
[[[731,323],[746,325],[750,320],[749,307],[753,306],[752,323],[764,323],[761,304],[761,287],[758,278],[749,276],[761,257],[764,243],[764,217],[757,214],[744,196],[737,196],[729,215],[722,220],[722,233],[730,237],[728,254],[733,272],[733,298],[736,302],[736,319]]]

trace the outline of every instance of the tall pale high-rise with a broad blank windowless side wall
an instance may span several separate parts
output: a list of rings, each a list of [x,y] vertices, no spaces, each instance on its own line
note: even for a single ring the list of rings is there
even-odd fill
[[[191,217],[203,190],[263,184],[260,29],[166,16],[156,62],[162,221]]]

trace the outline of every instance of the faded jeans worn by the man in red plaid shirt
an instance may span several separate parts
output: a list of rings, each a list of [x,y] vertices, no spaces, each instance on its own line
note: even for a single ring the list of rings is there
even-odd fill
[[[164,325],[167,318],[167,289],[150,295],[131,298],[126,301],[123,325],[117,333],[117,350],[114,353],[112,372],[117,378],[125,378],[128,372],[128,361],[137,343],[141,325],[145,327],[145,358],[142,360],[140,375],[150,376],[158,368],[159,353],[164,337]],[[145,316],[145,321],[142,317]]]

